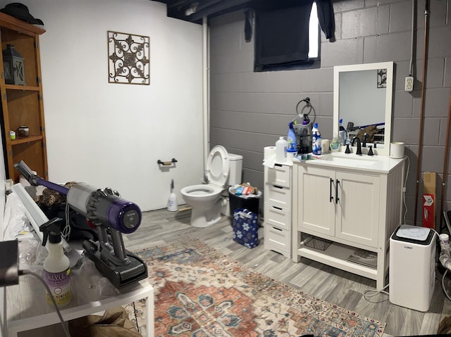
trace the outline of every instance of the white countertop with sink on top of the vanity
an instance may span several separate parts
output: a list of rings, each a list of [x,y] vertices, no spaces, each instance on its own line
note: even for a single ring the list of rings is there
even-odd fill
[[[333,152],[325,155],[314,155],[309,160],[293,159],[293,163],[303,165],[319,165],[329,168],[340,168],[345,170],[359,170],[367,172],[388,173],[404,158],[395,159],[388,155],[356,155],[355,153]]]

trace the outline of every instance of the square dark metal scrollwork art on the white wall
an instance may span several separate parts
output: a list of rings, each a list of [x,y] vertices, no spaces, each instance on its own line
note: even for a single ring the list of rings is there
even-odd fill
[[[109,82],[149,84],[149,37],[108,31]]]

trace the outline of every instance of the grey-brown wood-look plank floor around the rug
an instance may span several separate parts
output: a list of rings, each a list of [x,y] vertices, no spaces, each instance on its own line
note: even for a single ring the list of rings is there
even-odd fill
[[[190,226],[190,215],[191,210],[183,206],[177,212],[166,209],[144,212],[140,228],[135,233],[124,235],[125,246],[128,250],[134,250],[171,243],[188,236],[196,237],[257,272],[321,300],[386,322],[385,336],[434,334],[443,317],[451,314],[450,300],[445,297],[441,286],[440,271],[429,311],[409,310],[392,305],[384,293],[364,298],[363,292],[374,290],[376,281],[304,258],[295,263],[272,250],[265,250],[262,227],[259,228],[259,246],[249,249],[233,241],[230,218],[223,216],[217,224],[195,228]],[[445,279],[445,284],[451,293],[451,282],[448,284],[448,279]]]

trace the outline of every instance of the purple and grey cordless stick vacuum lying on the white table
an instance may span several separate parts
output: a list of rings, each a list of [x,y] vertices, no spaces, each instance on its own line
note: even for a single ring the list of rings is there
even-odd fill
[[[140,227],[141,210],[135,203],[125,201],[110,188],[96,189],[78,183],[68,189],[48,182],[32,172],[23,160],[14,167],[32,186],[42,185],[65,195],[70,208],[94,224],[99,241],[84,241],[85,254],[116,288],[147,278],[146,263],[125,250],[122,238],[122,233],[129,234]]]

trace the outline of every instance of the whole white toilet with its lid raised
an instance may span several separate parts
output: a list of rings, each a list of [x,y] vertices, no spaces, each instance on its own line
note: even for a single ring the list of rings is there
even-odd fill
[[[185,203],[191,206],[191,225],[207,227],[221,219],[226,202],[221,196],[227,186],[241,184],[242,155],[228,153],[223,146],[211,149],[206,162],[208,184],[184,187],[180,190]]]

